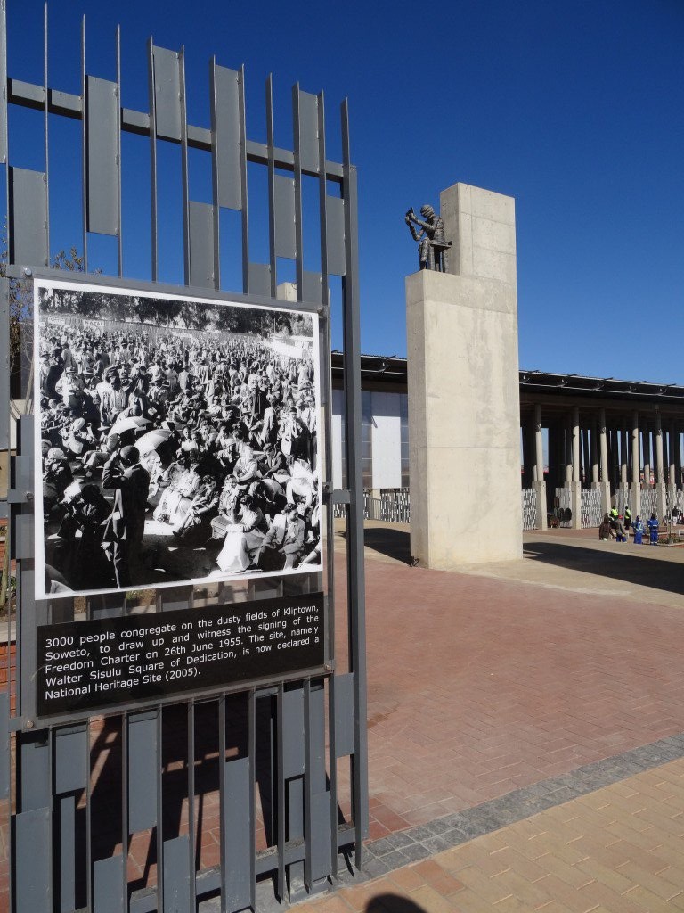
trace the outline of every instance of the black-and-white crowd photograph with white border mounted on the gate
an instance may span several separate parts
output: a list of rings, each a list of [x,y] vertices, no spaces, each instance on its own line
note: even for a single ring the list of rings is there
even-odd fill
[[[321,570],[315,314],[34,296],[36,598]]]

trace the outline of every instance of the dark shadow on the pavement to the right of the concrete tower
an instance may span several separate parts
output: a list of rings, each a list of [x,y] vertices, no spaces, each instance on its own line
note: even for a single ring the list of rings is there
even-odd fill
[[[648,549],[647,545],[635,546],[625,542],[622,546],[606,543],[606,551],[583,549],[554,542],[527,542],[524,557],[544,561],[572,571],[594,573],[654,590],[684,594],[684,567],[679,561],[663,561],[656,557],[648,560],[634,553],[635,549]],[[610,551],[608,551],[610,549]]]

